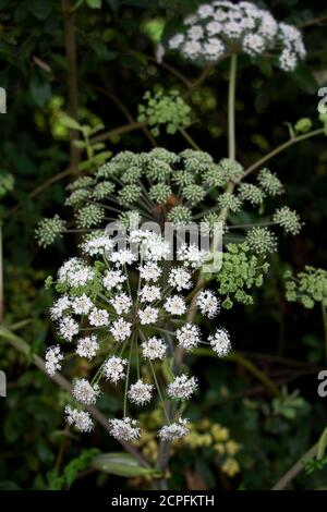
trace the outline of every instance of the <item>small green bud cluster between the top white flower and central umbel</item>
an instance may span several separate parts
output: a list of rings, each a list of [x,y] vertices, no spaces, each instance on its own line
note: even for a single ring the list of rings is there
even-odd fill
[[[185,103],[178,90],[147,92],[144,100],[144,105],[138,106],[137,121],[147,123],[155,136],[159,135],[161,126],[166,126],[166,132],[169,134],[174,134],[179,127],[190,126],[191,107]]]

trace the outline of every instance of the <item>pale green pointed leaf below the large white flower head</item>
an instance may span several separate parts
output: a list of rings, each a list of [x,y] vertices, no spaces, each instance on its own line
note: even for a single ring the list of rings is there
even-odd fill
[[[125,478],[143,475],[160,475],[158,470],[141,466],[129,453],[104,453],[95,456],[90,465],[95,470],[110,473],[111,475],[124,476]]]

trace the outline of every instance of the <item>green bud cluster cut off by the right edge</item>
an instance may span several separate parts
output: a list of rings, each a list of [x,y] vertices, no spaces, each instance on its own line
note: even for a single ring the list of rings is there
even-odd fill
[[[327,270],[306,266],[303,272],[293,276],[289,270],[284,273],[286,298],[299,302],[312,309],[315,303],[327,307]]]

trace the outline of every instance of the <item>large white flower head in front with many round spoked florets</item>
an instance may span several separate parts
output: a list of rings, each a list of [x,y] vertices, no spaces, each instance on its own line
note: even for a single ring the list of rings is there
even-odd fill
[[[205,252],[195,245],[183,244],[178,260],[164,272],[170,244],[158,234],[141,230],[130,233],[129,246],[123,248],[113,249],[111,240],[101,234],[98,239],[87,239],[84,251],[86,244],[88,256],[95,258],[94,264],[72,258],[61,267],[56,285],[62,295],[51,308],[58,333],[74,345],[75,355],[94,361],[104,354],[93,380],[77,378],[73,382],[72,395],[78,406],[66,406],[65,416],[68,423],[81,431],[92,428],[89,413],[83,411],[83,406],[97,402],[101,378],[112,385],[125,379],[125,398],[134,405],[148,404],[156,388],[161,400],[158,379],[154,376],[153,382],[143,380],[138,358],[141,355],[143,363],[155,371],[158,363],[173,355],[174,342],[186,351],[203,342],[199,328],[184,318],[190,308],[193,272],[206,259]],[[137,254],[134,244],[138,244]],[[136,277],[138,273],[138,282],[135,273]],[[198,312],[207,318],[219,313],[219,300],[210,290],[201,291],[195,302]],[[169,331],[167,326],[170,326]],[[78,337],[82,331],[83,336]],[[218,355],[223,356],[230,350],[229,337],[223,329],[211,334],[208,342]],[[51,376],[60,369],[62,358],[59,345],[48,349],[46,367]],[[133,381],[130,376],[136,362],[137,379]],[[187,400],[197,387],[195,377],[182,374],[168,385],[166,395]],[[126,416],[125,405],[122,419],[109,420],[109,431],[118,440],[132,441],[140,436],[135,420]],[[177,439],[187,431],[186,420],[180,418],[177,423],[168,422],[159,437]]]

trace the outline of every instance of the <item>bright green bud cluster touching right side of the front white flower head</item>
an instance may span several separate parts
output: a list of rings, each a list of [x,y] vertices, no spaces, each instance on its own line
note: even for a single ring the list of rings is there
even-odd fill
[[[251,253],[246,243],[228,244],[222,255],[222,266],[217,275],[218,293],[226,297],[222,307],[229,309],[234,302],[252,304],[249,291],[263,284],[269,264]]]

